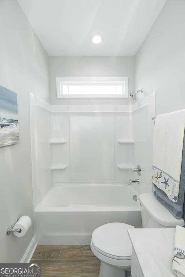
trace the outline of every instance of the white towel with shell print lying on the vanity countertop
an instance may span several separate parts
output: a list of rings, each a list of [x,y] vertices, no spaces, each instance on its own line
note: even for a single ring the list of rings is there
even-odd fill
[[[185,228],[177,225],[172,271],[178,277],[185,277]]]

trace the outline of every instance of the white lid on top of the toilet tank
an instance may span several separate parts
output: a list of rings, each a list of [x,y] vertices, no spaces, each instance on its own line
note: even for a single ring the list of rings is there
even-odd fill
[[[142,193],[139,196],[141,206],[157,223],[175,227],[176,225],[184,226],[184,220],[182,218],[175,218],[156,198],[152,192]]]

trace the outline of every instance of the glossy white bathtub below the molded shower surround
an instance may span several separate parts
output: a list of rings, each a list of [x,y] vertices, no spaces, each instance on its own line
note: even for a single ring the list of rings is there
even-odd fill
[[[34,210],[38,244],[90,244],[102,224],[142,228],[137,191],[128,185],[54,185]]]

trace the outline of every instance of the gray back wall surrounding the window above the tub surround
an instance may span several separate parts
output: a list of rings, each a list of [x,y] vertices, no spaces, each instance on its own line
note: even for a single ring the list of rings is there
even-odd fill
[[[127,100],[56,98],[56,77],[129,77],[134,89],[134,57],[49,57],[51,104],[124,104]],[[130,100],[129,100],[130,101]]]

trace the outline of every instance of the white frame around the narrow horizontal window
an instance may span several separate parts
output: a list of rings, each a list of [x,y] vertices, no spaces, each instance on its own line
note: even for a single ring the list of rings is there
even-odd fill
[[[78,83],[115,83],[123,84],[123,93],[122,94],[101,94],[101,95],[84,95],[84,94],[62,94],[62,85],[65,82],[65,85],[71,82]],[[107,78],[83,78],[83,77],[57,77],[56,78],[56,89],[57,89],[57,98],[127,98],[128,97],[128,77],[107,77]]]

